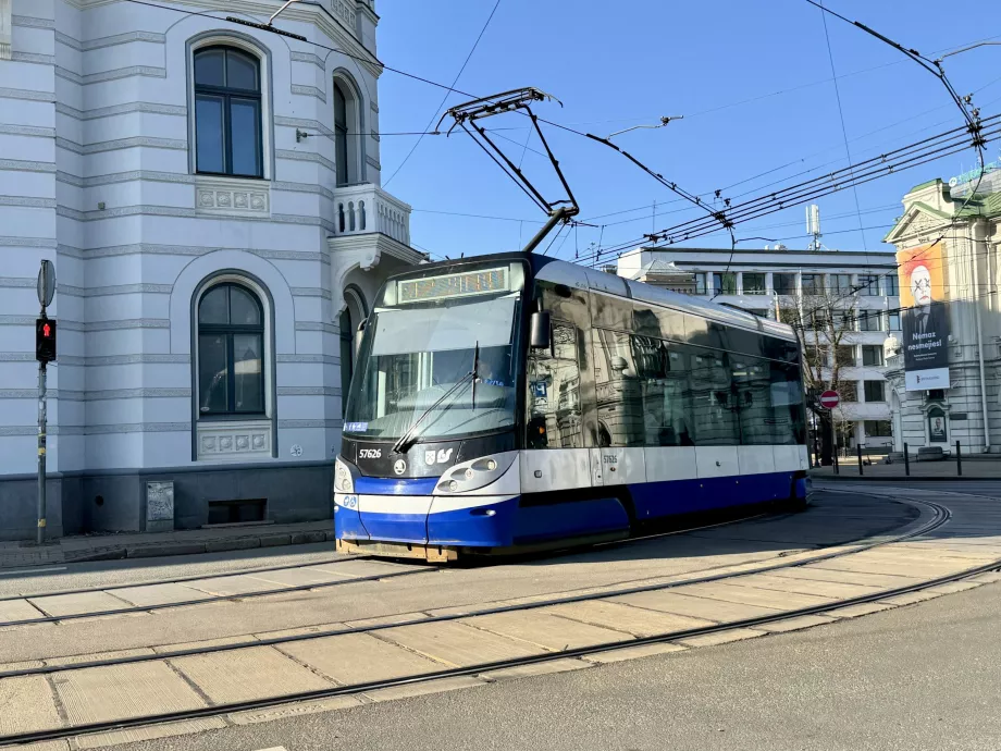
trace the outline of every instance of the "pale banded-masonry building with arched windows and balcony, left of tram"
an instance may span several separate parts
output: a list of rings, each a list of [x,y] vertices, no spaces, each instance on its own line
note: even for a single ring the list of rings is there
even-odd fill
[[[353,334],[422,260],[380,185],[374,0],[0,0],[0,540],[330,518]],[[329,48],[329,49],[328,49]]]

